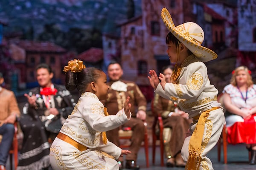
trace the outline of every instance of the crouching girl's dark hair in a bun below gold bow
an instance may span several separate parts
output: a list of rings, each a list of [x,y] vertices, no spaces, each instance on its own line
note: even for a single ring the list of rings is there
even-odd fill
[[[65,74],[65,86],[69,91],[77,88],[79,93],[82,94],[86,91],[87,86],[91,82],[97,82],[102,72],[102,70],[93,67],[84,68],[82,71],[77,73],[67,71],[67,73]]]

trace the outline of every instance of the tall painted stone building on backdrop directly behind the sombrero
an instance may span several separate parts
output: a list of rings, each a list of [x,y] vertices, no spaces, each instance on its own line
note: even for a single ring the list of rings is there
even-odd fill
[[[134,17],[121,26],[121,61],[125,70],[124,79],[133,80],[139,85],[148,85],[148,71],[160,71],[169,65],[166,55],[165,37],[168,29],[161,19],[161,10],[166,7],[175,25],[192,20],[186,13],[190,8],[189,0],[142,0],[142,15]]]

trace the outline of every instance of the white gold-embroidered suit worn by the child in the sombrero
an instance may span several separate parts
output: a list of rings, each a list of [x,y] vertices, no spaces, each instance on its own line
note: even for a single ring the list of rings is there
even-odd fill
[[[165,90],[159,84],[155,92],[166,99],[177,102],[182,111],[189,113],[189,116],[194,118],[194,124],[191,126],[192,132],[195,130],[198,117],[202,112],[220,107],[209,113],[201,144],[202,161],[200,170],[212,170],[212,163],[206,154],[218,142],[221,135],[219,129],[223,128],[225,121],[221,104],[217,102],[218,90],[209,82],[207,67],[193,54],[183,61],[177,82],[178,84],[166,83]],[[184,161],[187,161],[189,156],[189,140],[190,136],[185,139],[181,151]]]

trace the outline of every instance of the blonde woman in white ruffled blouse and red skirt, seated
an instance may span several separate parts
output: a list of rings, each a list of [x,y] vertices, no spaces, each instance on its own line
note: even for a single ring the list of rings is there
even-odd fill
[[[232,74],[230,84],[223,90],[228,142],[245,143],[251,151],[250,164],[256,164],[256,85],[245,66]]]

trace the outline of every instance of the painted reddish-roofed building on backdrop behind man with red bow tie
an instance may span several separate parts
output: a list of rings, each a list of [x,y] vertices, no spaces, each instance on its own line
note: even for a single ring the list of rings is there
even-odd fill
[[[37,85],[35,67],[39,63],[47,63],[54,73],[53,82],[64,80],[61,60],[66,50],[51,42],[35,42],[29,40],[13,40],[10,52],[18,72],[18,88],[32,88]]]

